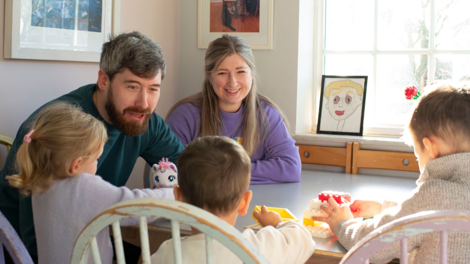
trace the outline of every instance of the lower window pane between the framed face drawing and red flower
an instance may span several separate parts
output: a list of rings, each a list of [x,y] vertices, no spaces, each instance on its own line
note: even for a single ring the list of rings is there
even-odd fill
[[[403,124],[412,106],[404,95],[407,86],[416,86],[420,91],[427,80],[427,56],[420,55],[377,55],[377,72],[374,97],[374,111],[368,112],[373,124]],[[369,93],[369,91],[368,91]]]

